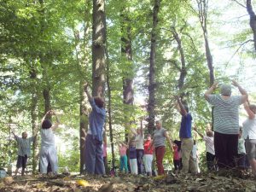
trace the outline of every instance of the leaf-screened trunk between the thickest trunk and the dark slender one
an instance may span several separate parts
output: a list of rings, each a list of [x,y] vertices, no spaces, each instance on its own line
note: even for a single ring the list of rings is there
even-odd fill
[[[124,115],[125,115],[125,141],[128,141],[128,132],[131,128],[131,117],[129,111],[131,109],[129,106],[133,105],[134,102],[134,91],[133,91],[133,65],[132,65],[132,57],[131,57],[131,20],[129,20],[128,13],[124,9],[121,10],[121,55],[122,61],[131,67],[131,71],[123,71],[123,102],[125,105]],[[127,113],[128,112],[128,113]]]

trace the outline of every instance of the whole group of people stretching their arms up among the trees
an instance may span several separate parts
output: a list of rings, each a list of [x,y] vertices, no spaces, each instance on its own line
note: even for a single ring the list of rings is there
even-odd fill
[[[252,167],[252,172],[256,174],[256,106],[248,102],[246,90],[236,81],[232,84],[238,88],[241,96],[231,96],[231,85],[222,84],[220,86],[220,94],[212,94],[217,88],[218,83],[212,84],[205,93],[207,102],[212,105],[213,110],[213,131],[209,127],[206,135],[198,131],[194,125],[194,130],[206,142],[207,147],[207,167],[209,170],[218,170],[233,168],[237,166],[238,152],[245,146],[246,154]],[[84,84],[84,91],[88,96],[90,106],[92,108],[89,116],[89,130],[85,137],[84,148],[84,171],[89,174],[104,175],[105,166],[103,154],[106,156],[106,143],[103,145],[104,123],[106,118],[106,110],[104,108],[104,100],[101,97],[101,89],[98,90],[96,97],[92,97],[88,90],[88,85]],[[143,124],[141,128],[133,132],[133,137],[129,142],[119,142],[120,155],[120,171],[128,172],[128,162],[132,174],[142,174],[143,166],[149,176],[152,175],[152,161],[155,154],[158,175],[164,174],[163,159],[166,154],[166,141],[173,151],[174,165],[176,169],[182,172],[197,173],[198,167],[195,158],[195,141],[192,137],[192,115],[189,113],[187,105],[183,104],[178,96],[177,109],[182,115],[179,140],[172,142],[165,128],[162,127],[161,120],[155,122],[154,135],[147,134],[144,139]],[[242,130],[239,126],[239,106],[244,104],[248,118],[242,124]],[[49,112],[52,113],[52,112]],[[51,125],[49,119],[42,119],[41,129],[41,150],[40,150],[40,172],[46,173],[47,166],[50,164],[52,172],[57,172],[57,155],[55,151],[55,141],[53,131],[59,124],[56,118],[56,124]],[[240,134],[242,131],[242,134]],[[214,133],[214,134],[213,134]],[[240,140],[239,140],[240,134]],[[30,143],[34,137],[27,138],[26,132],[22,133],[22,138],[15,136],[19,143],[19,158],[17,160],[17,168],[22,166],[24,173],[24,165],[26,165],[27,156],[30,155]],[[242,140],[243,139],[243,140]],[[238,142],[239,141],[239,142]],[[245,145],[243,144],[245,141]],[[102,145],[104,148],[102,148]],[[128,155],[127,155],[128,154]],[[245,153],[244,153],[245,154]],[[127,157],[128,156],[128,157]],[[129,161],[128,161],[129,159]]]

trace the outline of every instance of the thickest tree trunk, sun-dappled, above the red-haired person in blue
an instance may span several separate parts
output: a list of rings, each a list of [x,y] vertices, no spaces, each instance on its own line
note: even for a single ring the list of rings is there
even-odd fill
[[[106,82],[106,15],[104,0],[93,0],[92,14],[92,96],[97,95],[99,87],[102,87],[103,96]]]

